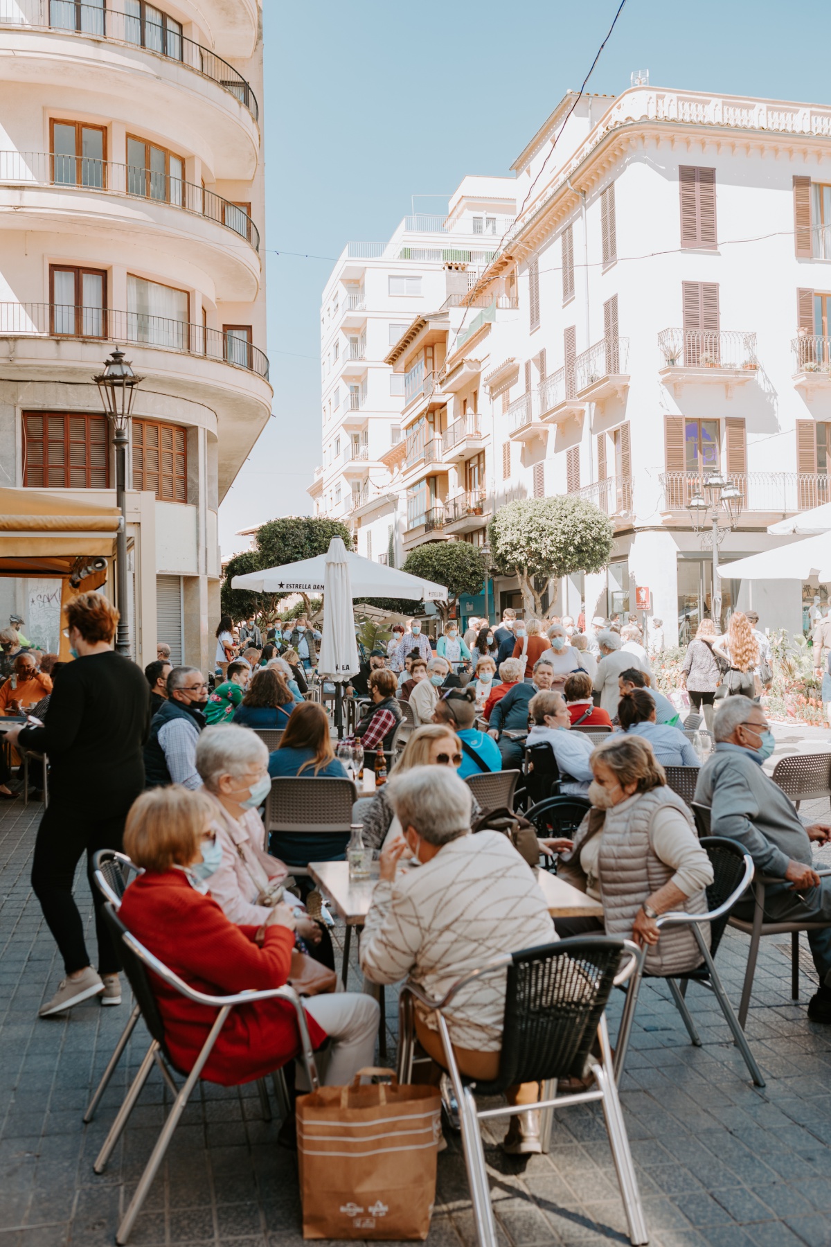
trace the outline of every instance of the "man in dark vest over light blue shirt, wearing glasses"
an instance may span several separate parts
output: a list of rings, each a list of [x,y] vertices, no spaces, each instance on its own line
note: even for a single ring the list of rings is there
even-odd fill
[[[173,667],[167,677],[167,701],[150,725],[145,746],[147,788],[181,783],[201,788],[196,747],[206,726],[208,686],[198,667]]]

